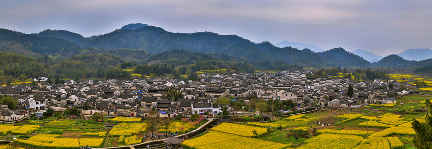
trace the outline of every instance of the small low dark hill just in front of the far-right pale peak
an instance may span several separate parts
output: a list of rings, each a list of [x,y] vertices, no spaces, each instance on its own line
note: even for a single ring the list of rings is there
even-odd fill
[[[407,68],[416,64],[417,61],[408,61],[401,58],[398,55],[389,55],[378,62],[372,63],[373,67],[397,67],[397,68]]]

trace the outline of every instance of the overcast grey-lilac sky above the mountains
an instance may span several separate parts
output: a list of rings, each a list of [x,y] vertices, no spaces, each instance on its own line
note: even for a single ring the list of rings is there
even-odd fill
[[[432,48],[432,0],[1,0],[0,28],[84,37],[129,23],[377,55]]]

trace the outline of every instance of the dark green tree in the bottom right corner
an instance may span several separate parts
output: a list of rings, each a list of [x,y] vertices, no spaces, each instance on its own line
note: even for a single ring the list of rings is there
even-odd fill
[[[417,149],[432,149],[432,103],[429,99],[425,101],[427,107],[426,121],[420,122],[413,118],[413,129],[416,137],[413,139],[414,146]]]

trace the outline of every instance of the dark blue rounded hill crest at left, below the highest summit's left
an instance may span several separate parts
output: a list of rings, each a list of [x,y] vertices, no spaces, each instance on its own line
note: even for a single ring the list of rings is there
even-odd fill
[[[81,46],[82,44],[86,43],[88,40],[88,38],[84,38],[82,35],[77,34],[77,33],[73,33],[67,30],[51,30],[51,29],[47,29],[44,30],[40,33],[38,33],[37,35],[41,36],[41,37],[56,37],[56,38],[60,38],[60,39],[65,39],[73,44],[79,45]]]

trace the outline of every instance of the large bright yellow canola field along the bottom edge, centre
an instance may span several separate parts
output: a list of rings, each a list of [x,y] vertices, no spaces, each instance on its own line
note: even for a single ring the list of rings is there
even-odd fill
[[[201,137],[186,140],[183,146],[192,149],[285,149],[292,144],[280,144],[247,138],[222,132],[210,131]]]

